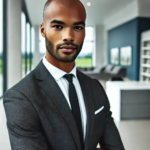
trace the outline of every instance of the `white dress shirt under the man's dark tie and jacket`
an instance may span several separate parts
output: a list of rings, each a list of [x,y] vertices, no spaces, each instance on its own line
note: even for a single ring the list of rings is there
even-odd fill
[[[64,94],[64,96],[68,102],[68,105],[71,109],[71,104],[70,104],[70,100],[69,100],[69,83],[68,83],[67,79],[63,77],[67,73],[64,72],[63,70],[60,70],[59,68],[53,66],[52,64],[50,64],[46,60],[45,56],[43,57],[42,61],[43,61],[44,66],[51,73],[51,75],[53,76],[53,78],[57,82],[58,86],[62,90],[62,93]],[[76,75],[76,65],[74,66],[74,68],[71,70],[71,72],[69,74],[73,74],[73,84],[75,86],[78,100],[79,100],[79,106],[80,106],[80,111],[81,111],[83,139],[85,141],[87,114],[86,114],[85,103],[84,103],[84,98],[83,98],[81,86],[80,86],[80,83],[79,83],[77,75]]]

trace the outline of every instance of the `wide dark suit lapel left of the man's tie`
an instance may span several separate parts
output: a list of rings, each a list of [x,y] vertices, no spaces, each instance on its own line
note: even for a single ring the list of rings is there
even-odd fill
[[[48,72],[48,70],[45,68],[42,62],[40,62],[36,68],[36,78],[41,80],[39,82],[39,85],[45,90],[45,92],[49,95],[50,99],[59,109],[68,128],[70,129],[77,150],[81,150],[81,142],[79,140],[78,129],[69,105],[58,84],[56,83],[52,75]]]

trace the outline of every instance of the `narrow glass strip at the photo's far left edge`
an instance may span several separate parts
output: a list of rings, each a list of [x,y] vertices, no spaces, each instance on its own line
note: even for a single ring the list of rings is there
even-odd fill
[[[0,97],[3,95],[3,0],[0,1]]]

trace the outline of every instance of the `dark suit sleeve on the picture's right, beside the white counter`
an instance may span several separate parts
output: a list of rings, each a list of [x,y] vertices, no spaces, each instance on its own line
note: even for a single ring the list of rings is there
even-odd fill
[[[103,91],[105,99],[105,123],[102,138],[100,139],[100,145],[104,150],[125,150],[118,129],[113,121],[113,118],[111,117],[112,113],[110,111],[110,104],[107,95],[100,83],[99,85]]]

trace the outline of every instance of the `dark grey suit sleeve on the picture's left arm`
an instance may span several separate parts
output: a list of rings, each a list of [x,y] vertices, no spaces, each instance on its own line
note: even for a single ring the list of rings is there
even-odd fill
[[[4,108],[12,150],[48,150],[38,114],[23,94],[7,91]]]

